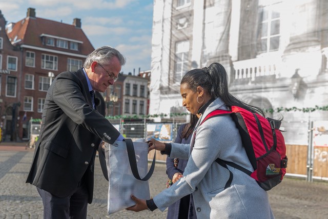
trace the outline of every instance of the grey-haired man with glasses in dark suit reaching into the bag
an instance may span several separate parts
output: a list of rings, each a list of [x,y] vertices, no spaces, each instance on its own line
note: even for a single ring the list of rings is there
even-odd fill
[[[52,82],[26,181],[42,197],[44,218],[87,217],[96,151],[101,152],[100,143],[123,140],[105,118],[99,92],[117,81],[125,62],[116,49],[100,47],[88,55],[84,68],[60,73]]]

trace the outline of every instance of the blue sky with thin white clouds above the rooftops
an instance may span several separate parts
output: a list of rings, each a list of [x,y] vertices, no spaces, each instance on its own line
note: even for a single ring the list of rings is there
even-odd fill
[[[80,18],[94,48],[108,45],[126,56],[124,74],[150,70],[153,0],[0,0],[7,24],[25,18],[28,8],[66,24]]]

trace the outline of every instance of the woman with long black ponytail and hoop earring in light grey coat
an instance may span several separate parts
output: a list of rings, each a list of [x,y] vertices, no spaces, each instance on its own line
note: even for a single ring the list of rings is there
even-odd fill
[[[229,93],[227,72],[218,63],[187,72],[182,78],[180,92],[182,105],[192,114],[201,114],[191,144],[165,144],[152,139],[149,149],[160,150],[170,157],[189,159],[183,177],[151,200],[140,200],[132,195],[136,205],[128,210],[159,208],[164,211],[192,193],[197,218],[274,218],[267,192],[249,175],[228,166],[233,180],[228,188],[224,188],[230,172],[216,163],[216,158],[254,171],[232,118],[217,116],[199,125],[216,109],[239,106],[263,114],[262,110]]]

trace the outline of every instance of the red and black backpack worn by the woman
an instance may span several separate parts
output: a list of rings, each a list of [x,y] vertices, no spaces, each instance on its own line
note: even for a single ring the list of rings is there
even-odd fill
[[[264,118],[257,113],[232,106],[231,111],[214,110],[204,118],[202,123],[211,117],[228,114],[231,115],[239,130],[242,145],[254,168],[254,172],[233,162],[223,161],[220,158],[217,158],[216,162],[227,169],[227,165],[229,165],[247,173],[265,191],[272,189],[282,181],[288,162],[284,138],[279,130],[281,121]],[[230,178],[225,188],[230,187],[232,179],[233,174],[230,172]]]

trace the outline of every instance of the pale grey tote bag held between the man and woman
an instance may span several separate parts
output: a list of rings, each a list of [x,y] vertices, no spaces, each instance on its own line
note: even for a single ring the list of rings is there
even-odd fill
[[[148,180],[155,167],[155,154],[148,170],[148,144],[132,142],[126,138],[113,145],[105,143],[105,156],[108,171],[108,214],[135,205],[131,194],[149,200]]]

